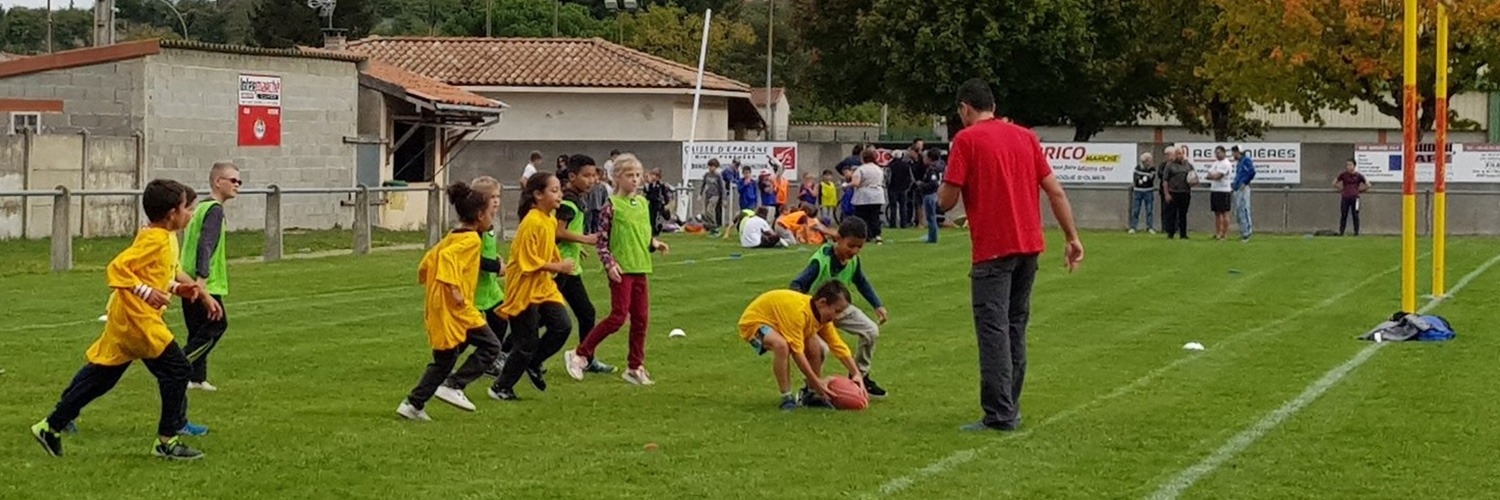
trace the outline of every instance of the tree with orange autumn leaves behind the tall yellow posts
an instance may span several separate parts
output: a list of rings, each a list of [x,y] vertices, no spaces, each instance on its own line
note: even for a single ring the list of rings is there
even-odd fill
[[[1215,2],[1224,11],[1218,30],[1228,36],[1216,44],[1203,71],[1233,75],[1215,80],[1215,90],[1250,96],[1274,111],[1293,110],[1320,125],[1324,111],[1354,113],[1356,102],[1402,120],[1400,2]],[[1496,78],[1480,68],[1500,63],[1500,3],[1460,2],[1450,12],[1449,96],[1496,89]],[[1424,2],[1419,131],[1431,129],[1437,119],[1434,14],[1432,3]]]

